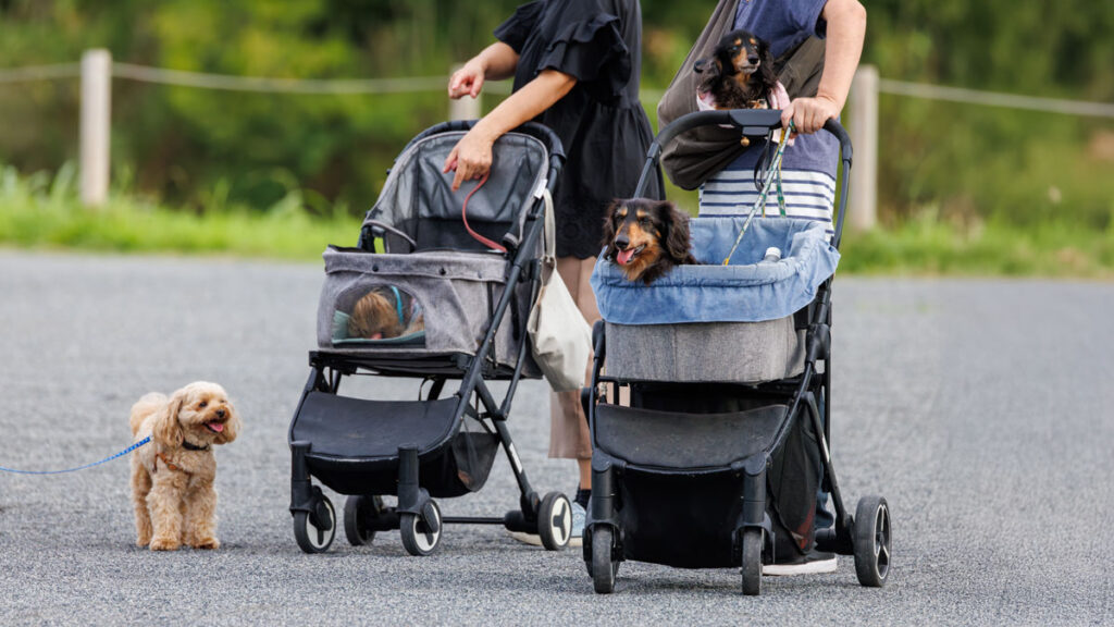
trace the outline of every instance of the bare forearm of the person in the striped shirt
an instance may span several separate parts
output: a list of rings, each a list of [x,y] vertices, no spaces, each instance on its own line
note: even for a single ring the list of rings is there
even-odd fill
[[[842,109],[862,55],[867,10],[858,0],[828,0],[823,18],[828,22],[828,36],[824,42],[824,71],[820,77],[817,97],[830,99],[838,109]]]

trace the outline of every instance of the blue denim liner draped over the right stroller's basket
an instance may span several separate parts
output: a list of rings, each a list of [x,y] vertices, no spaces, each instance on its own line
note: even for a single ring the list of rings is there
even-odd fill
[[[600,254],[592,273],[599,314],[618,325],[760,322],[790,316],[809,305],[817,287],[832,276],[839,251],[828,243],[824,224],[788,218],[755,219],[730,266],[723,259],[745,216],[690,221],[692,252],[700,266],[678,266],[646,286],[628,281]],[[776,247],[782,259],[761,262]]]

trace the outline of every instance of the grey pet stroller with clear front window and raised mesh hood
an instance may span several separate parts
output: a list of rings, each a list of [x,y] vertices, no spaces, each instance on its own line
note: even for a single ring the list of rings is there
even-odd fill
[[[482,187],[466,183],[453,193],[452,173],[441,167],[471,124],[444,123],[414,137],[368,212],[358,247],[324,253],[320,349],[310,353],[289,435],[290,510],[305,552],[328,550],[340,524],[313,478],[348,495],[343,527],[353,546],[399,529],[407,551],[424,556],[451,523],[536,532],[550,550],[568,542],[568,499],[539,499],[507,427],[518,382],[540,376],[526,322],[539,287],[543,197],[564,154],[553,132],[526,124],[496,142]],[[492,250],[499,242],[505,251]],[[341,396],[342,379],[355,375],[409,377],[417,399]],[[502,399],[491,380],[509,382]],[[448,382],[459,387],[442,396]],[[500,445],[520,509],[442,518],[433,499],[480,490]],[[383,495],[397,495],[398,504],[384,505]]]

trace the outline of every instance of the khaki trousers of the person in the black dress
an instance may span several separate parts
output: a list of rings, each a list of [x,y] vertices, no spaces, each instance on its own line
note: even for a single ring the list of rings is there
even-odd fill
[[[557,273],[573,296],[580,314],[588,325],[595,325],[599,319],[596,307],[596,295],[592,292],[589,279],[595,267],[594,258],[577,259],[560,257],[557,259]],[[585,385],[592,380],[592,359],[585,364]],[[588,433],[588,421],[580,407],[580,390],[549,393],[549,456],[567,460],[590,460],[592,438]]]

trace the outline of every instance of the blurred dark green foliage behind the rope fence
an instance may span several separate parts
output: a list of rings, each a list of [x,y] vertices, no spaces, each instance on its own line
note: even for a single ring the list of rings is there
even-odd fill
[[[75,62],[85,49],[106,47],[118,61],[215,74],[444,76],[491,42],[518,3],[0,0],[0,67]],[[664,88],[714,3],[642,0],[644,87]],[[863,60],[883,77],[1114,102],[1112,2],[864,4]],[[303,199],[359,212],[405,141],[447,108],[440,91],[310,96],[117,80],[115,170],[134,173],[137,191],[198,208],[214,199],[267,208],[299,187]],[[77,81],[0,85],[0,162],[57,168],[77,151]],[[881,197],[891,215],[939,203],[945,214],[978,208],[983,216],[1020,219],[1010,213],[1017,205],[1036,202],[1030,213],[1039,214],[1061,197],[1044,193],[1059,180],[1078,185],[1063,201],[1095,224],[1114,212],[1110,177],[1079,174],[1108,167],[1082,148],[1114,132],[1110,123],[883,97],[881,125]]]

